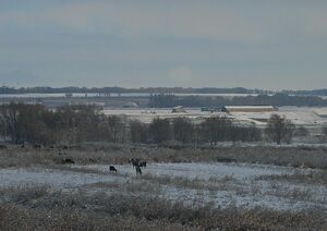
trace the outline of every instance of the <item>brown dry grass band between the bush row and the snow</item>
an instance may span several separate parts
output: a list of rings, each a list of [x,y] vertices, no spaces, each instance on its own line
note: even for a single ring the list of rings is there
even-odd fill
[[[61,155],[59,155],[59,153]],[[128,163],[132,157],[148,162],[257,162],[327,169],[326,147],[155,147],[130,145],[92,145],[70,149],[34,149],[10,146],[0,150],[0,167],[58,166],[64,157],[78,165]]]

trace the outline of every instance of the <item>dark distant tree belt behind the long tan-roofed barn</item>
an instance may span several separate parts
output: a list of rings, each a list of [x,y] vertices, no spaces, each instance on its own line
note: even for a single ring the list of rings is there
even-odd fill
[[[327,106],[327,99],[315,96],[289,96],[286,94],[244,96],[244,97],[207,97],[207,96],[174,96],[169,94],[153,95],[148,106],[152,108],[184,107],[221,107],[244,105],[271,105],[271,106]]]

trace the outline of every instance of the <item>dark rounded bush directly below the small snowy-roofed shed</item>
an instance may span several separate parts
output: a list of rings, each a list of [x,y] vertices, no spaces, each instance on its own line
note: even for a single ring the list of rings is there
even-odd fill
[[[177,118],[172,123],[173,137],[182,143],[190,143],[193,137],[194,127],[190,119]]]

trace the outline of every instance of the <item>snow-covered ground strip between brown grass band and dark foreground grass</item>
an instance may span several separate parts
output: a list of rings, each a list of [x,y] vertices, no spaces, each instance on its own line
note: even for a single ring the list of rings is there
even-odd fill
[[[0,169],[0,186],[49,185],[53,190],[156,194],[191,205],[256,206],[298,211],[320,208],[327,212],[327,187],[293,182],[283,175],[311,175],[319,170],[250,163],[152,163],[135,177],[130,165],[71,166],[66,169]],[[266,179],[267,178],[267,179]],[[128,189],[128,190],[126,190]]]

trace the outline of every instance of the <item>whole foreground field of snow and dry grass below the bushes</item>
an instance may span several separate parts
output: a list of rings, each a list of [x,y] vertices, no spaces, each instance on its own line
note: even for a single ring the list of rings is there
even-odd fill
[[[313,146],[10,146],[0,150],[0,227],[48,229],[41,218],[53,230],[324,230],[325,155]],[[129,162],[133,157],[147,161],[142,174]]]

